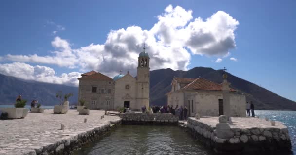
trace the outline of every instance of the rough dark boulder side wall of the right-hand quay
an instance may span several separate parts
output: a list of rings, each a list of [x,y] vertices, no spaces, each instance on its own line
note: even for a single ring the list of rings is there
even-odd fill
[[[216,125],[189,118],[187,127],[194,138],[214,149],[216,153],[291,152],[287,128],[231,128],[227,131],[230,138],[222,139],[217,137],[219,131]]]

